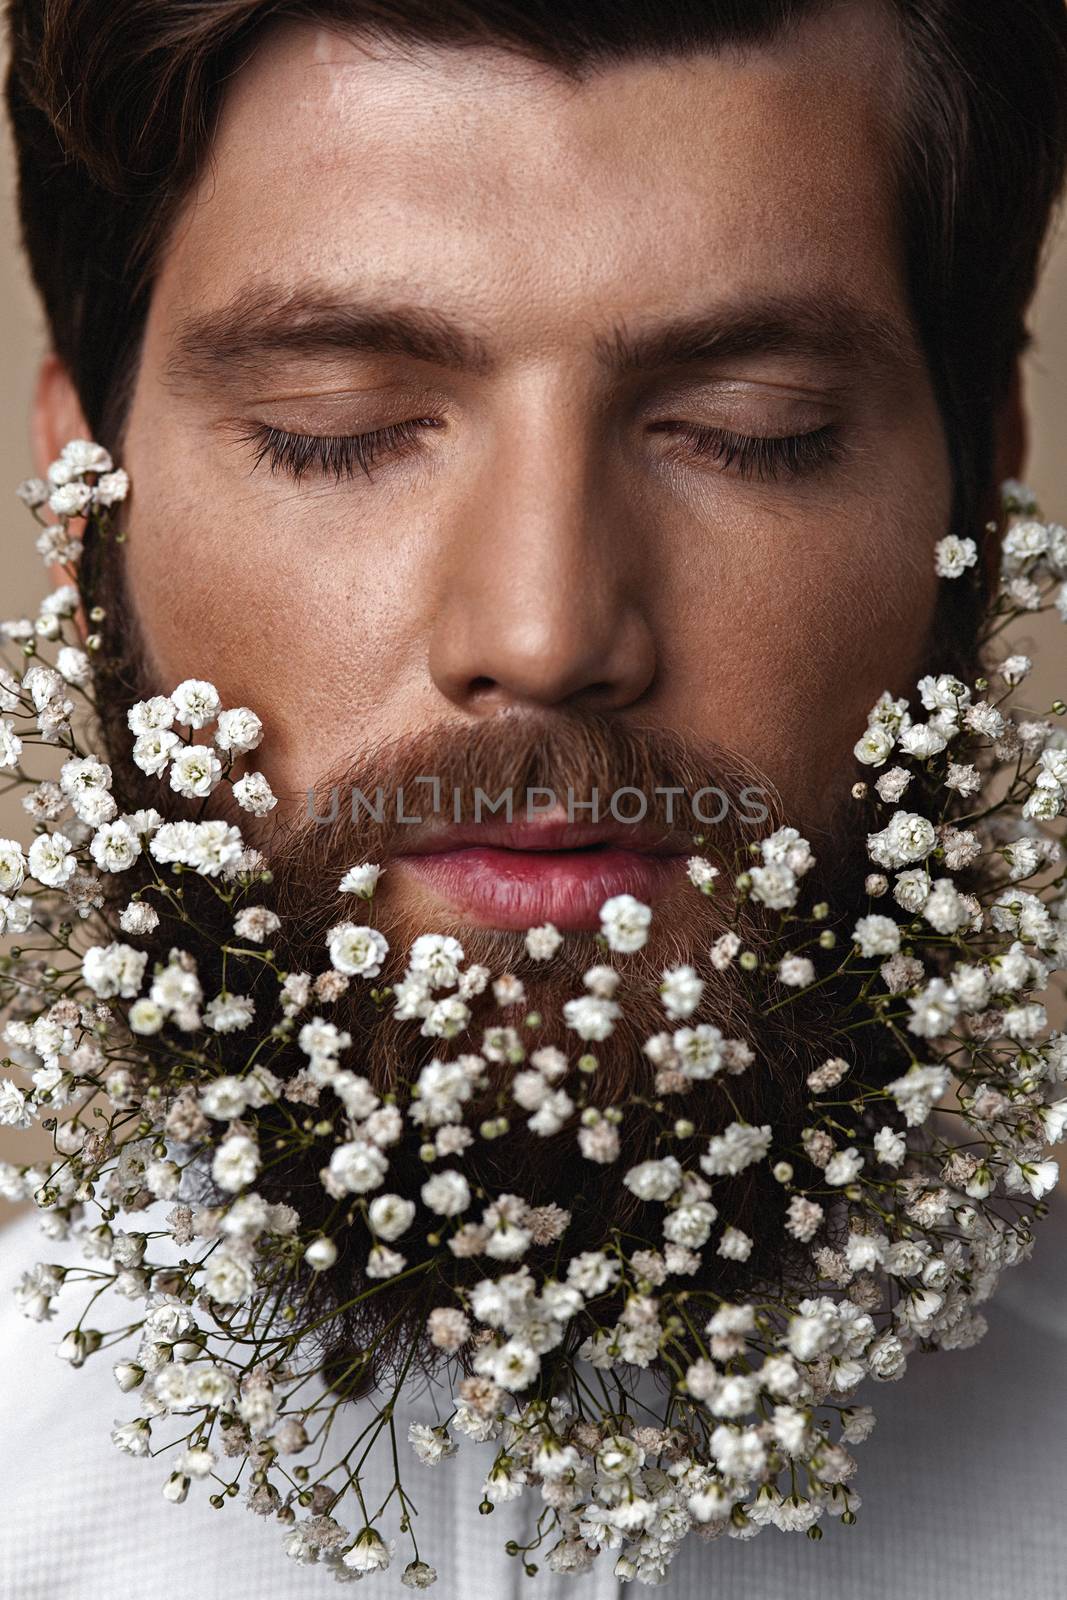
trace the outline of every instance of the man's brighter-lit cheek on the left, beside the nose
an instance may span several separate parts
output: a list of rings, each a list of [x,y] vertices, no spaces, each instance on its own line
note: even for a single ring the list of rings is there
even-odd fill
[[[224,704],[251,706],[280,795],[395,733],[422,603],[413,562],[382,558],[328,494],[322,515],[306,494],[278,506],[246,474],[138,451],[133,430],[126,456],[139,486],[126,574],[154,690],[203,677]]]

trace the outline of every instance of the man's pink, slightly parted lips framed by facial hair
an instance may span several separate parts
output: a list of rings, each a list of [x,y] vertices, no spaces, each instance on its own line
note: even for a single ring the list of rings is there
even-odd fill
[[[590,931],[614,894],[648,906],[662,899],[691,850],[691,842],[637,822],[483,822],[419,835],[394,858],[390,877],[413,880],[482,926],[550,922],[561,933]]]

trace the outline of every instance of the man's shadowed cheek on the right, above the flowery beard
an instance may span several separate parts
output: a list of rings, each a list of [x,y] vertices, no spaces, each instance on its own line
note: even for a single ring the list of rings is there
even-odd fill
[[[856,778],[878,694],[910,694],[928,667],[947,518],[939,480],[907,504],[745,509],[688,563],[670,718],[753,760],[817,826]]]

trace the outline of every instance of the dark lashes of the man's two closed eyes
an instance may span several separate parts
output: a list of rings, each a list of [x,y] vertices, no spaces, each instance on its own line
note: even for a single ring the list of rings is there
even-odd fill
[[[266,461],[272,475],[285,472],[298,483],[310,472],[341,483],[357,472],[371,478],[382,456],[400,458],[422,450],[419,434],[440,426],[438,418],[422,416],[368,434],[286,434],[278,427],[254,427],[243,438],[253,446],[253,472]],[[779,438],[731,434],[721,427],[675,426],[673,430],[688,443],[691,456],[734,470],[745,482],[795,478],[829,466],[838,454],[832,426]]]

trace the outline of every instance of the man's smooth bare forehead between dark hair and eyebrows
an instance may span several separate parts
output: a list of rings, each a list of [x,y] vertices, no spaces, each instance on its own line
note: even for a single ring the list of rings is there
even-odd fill
[[[150,323],[309,280],[446,301],[531,349],[606,307],[718,291],[845,288],[899,312],[899,66],[875,0],[744,54],[579,80],[494,48],[277,26],[227,90]]]

